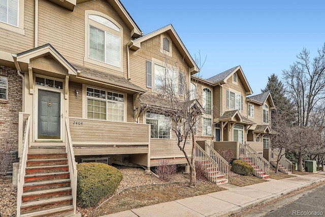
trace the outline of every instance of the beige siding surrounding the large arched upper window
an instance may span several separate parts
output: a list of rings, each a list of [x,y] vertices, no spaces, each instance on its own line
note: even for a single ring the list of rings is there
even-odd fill
[[[68,12],[66,9],[48,1],[41,1],[39,7],[39,46],[50,43],[72,64],[109,72],[121,77],[127,76],[125,45],[132,39],[130,36],[131,32],[108,3],[105,1],[94,1],[78,4],[73,12]],[[123,54],[121,66],[123,72],[112,70],[109,65],[102,67],[84,61],[85,40],[87,39],[87,36],[85,36],[85,10],[100,11],[112,17],[122,26],[123,40],[121,49]],[[48,14],[51,14],[51,16],[48,16]]]

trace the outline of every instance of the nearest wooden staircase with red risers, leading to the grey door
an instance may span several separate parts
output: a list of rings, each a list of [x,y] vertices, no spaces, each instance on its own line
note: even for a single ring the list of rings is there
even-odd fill
[[[29,147],[20,216],[73,215],[66,147]]]

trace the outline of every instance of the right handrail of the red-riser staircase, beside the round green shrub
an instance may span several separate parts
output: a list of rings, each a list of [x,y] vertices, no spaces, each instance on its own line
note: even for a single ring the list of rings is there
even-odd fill
[[[71,139],[71,135],[70,135],[69,117],[66,118],[66,151],[67,151],[68,164],[69,164],[69,173],[70,173],[70,181],[71,181],[71,188],[72,188],[74,214],[76,214],[78,171],[77,171],[77,166],[76,166],[75,154],[73,152],[72,139]]]

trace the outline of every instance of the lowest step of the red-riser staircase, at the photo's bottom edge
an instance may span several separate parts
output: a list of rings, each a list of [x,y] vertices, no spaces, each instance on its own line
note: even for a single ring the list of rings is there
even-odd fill
[[[73,205],[71,206],[63,206],[57,207],[47,210],[41,210],[37,212],[30,212],[21,214],[21,217],[39,217],[39,216],[51,216],[51,217],[65,217],[65,216],[72,216],[74,214]]]

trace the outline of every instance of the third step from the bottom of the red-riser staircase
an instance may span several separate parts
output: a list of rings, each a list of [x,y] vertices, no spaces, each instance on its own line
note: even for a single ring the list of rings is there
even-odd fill
[[[72,193],[71,187],[59,188],[59,189],[48,189],[43,191],[35,191],[35,192],[24,192],[22,194],[22,202],[31,202],[37,200],[44,200],[54,197],[62,197],[69,196]]]

